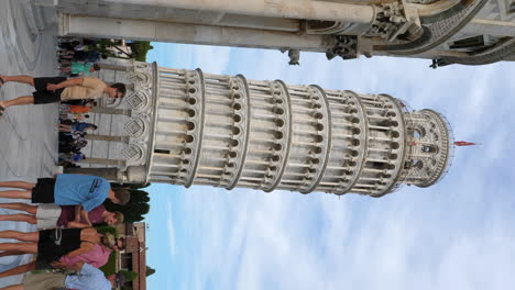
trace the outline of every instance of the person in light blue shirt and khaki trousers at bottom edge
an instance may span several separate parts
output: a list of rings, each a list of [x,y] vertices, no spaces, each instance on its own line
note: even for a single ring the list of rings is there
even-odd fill
[[[56,268],[75,270],[76,274],[62,272],[30,274],[23,278],[22,283],[8,286],[0,290],[54,290],[54,289],[80,289],[80,290],[111,290],[122,287],[125,277],[121,272],[103,276],[103,272],[89,264],[78,261],[68,266],[54,263]]]

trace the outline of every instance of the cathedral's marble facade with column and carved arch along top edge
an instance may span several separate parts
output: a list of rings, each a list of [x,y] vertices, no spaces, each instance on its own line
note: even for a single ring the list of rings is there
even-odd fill
[[[303,51],[434,67],[515,60],[515,0],[32,1],[58,11],[62,35],[271,48],[291,64]]]

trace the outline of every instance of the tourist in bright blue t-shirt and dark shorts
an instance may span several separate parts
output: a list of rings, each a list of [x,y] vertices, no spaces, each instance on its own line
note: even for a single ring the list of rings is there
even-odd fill
[[[36,183],[25,181],[4,181],[0,187],[21,188],[24,190],[0,191],[0,198],[30,199],[32,203],[56,203],[58,205],[76,205],[76,216],[80,208],[89,212],[102,204],[106,199],[113,203],[127,204],[129,191],[111,189],[105,178],[87,175],[57,175],[56,178],[40,178]]]

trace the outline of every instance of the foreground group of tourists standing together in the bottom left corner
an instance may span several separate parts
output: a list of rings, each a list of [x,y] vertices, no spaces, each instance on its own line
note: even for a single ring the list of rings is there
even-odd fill
[[[3,214],[0,221],[26,222],[37,225],[40,231],[23,233],[1,231],[0,238],[18,239],[17,243],[1,243],[0,257],[36,254],[30,264],[14,267],[0,274],[0,278],[32,270],[69,268],[80,270],[80,276],[48,272],[28,275],[22,288],[7,289],[111,289],[123,283],[124,277],[114,274],[105,277],[98,270],[106,265],[111,252],[123,246],[122,239],[112,234],[99,233],[94,225],[116,225],[123,222],[123,214],[109,212],[102,205],[106,199],[113,203],[127,204],[130,193],[123,189],[111,189],[108,180],[87,175],[56,175],[55,178],[40,178],[36,183],[3,181],[3,188],[18,190],[0,191],[0,198],[30,200],[28,204],[0,203],[0,208],[25,213]],[[87,272],[85,275],[85,272]],[[52,286],[53,288],[42,288]]]

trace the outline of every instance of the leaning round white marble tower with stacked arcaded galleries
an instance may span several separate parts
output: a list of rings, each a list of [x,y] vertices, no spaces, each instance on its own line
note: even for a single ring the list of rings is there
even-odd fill
[[[381,197],[434,185],[452,156],[442,115],[387,94],[155,63],[127,67],[127,79],[118,181]]]

